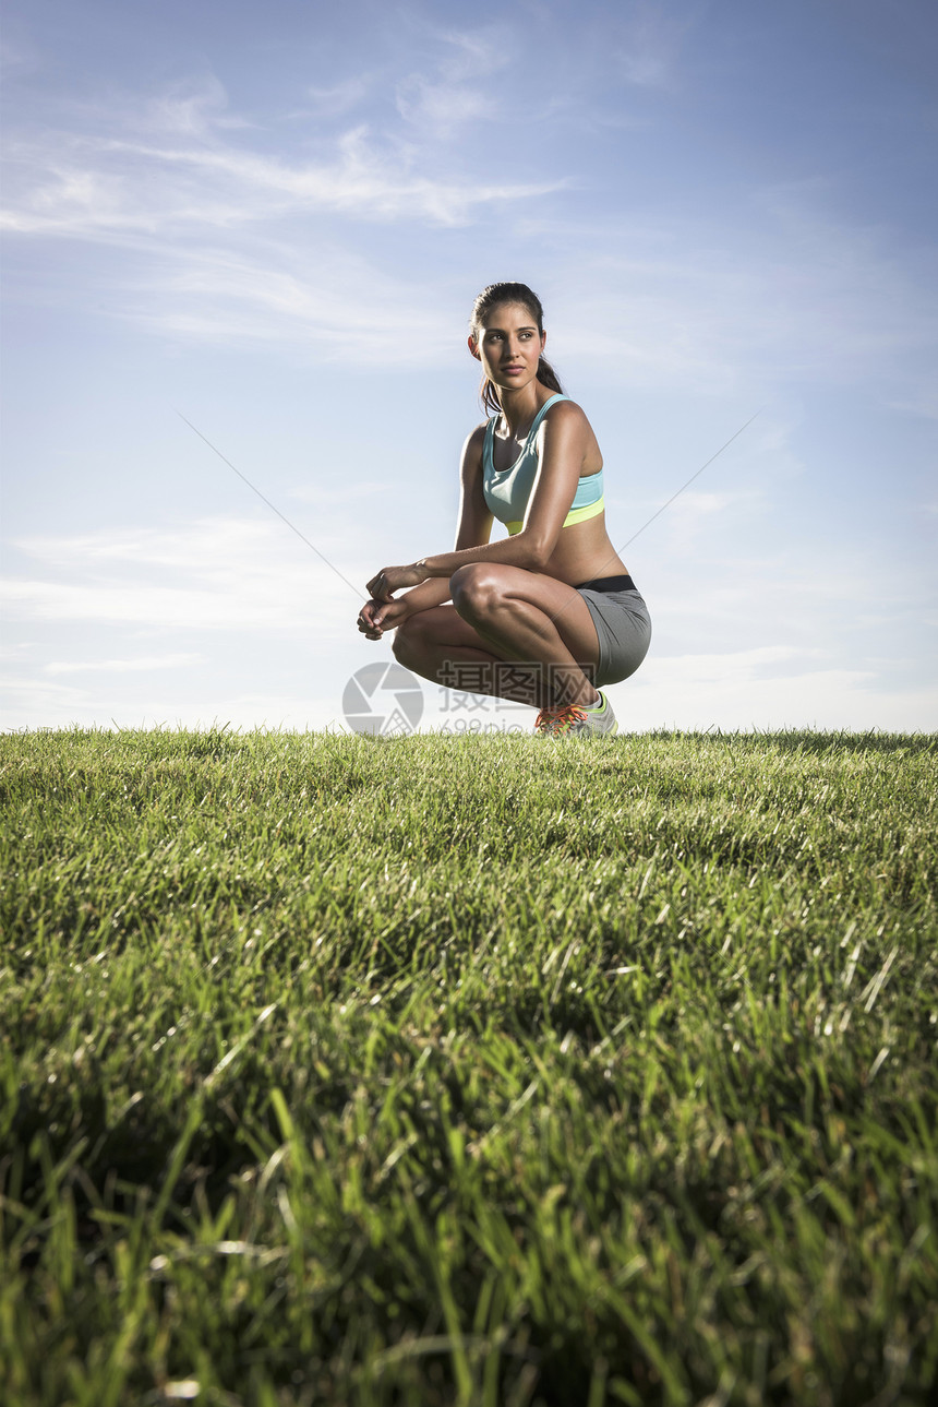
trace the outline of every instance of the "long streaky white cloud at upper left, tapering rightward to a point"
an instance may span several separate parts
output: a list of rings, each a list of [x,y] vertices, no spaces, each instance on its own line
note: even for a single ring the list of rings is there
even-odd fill
[[[93,129],[98,125],[105,131]],[[108,122],[89,121],[83,132],[10,134],[3,228],[114,239],[121,232],[177,235],[316,212],[461,225],[491,205],[532,200],[563,184],[460,179],[451,167],[433,176],[412,146],[380,139],[366,124],[330,141],[323,159],[271,156],[232,139],[229,129],[243,125],[211,83],[207,93],[149,104],[145,120],[114,113]]]

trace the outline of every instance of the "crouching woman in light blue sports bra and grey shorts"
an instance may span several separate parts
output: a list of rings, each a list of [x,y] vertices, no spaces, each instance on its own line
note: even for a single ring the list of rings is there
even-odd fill
[[[383,567],[359,630],[397,630],[397,658],[435,684],[540,708],[537,733],[615,733],[600,687],[634,674],[651,620],[606,535],[596,436],[546,342],[526,284],[475,300],[468,348],[495,414],[463,449],[456,550]],[[509,533],[494,543],[492,518]]]

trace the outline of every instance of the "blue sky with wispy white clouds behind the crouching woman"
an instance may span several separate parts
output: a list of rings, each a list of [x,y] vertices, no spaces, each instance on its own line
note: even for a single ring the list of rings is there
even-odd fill
[[[347,730],[518,279],[653,616],[620,727],[938,727],[931,0],[8,0],[3,72],[0,726]]]

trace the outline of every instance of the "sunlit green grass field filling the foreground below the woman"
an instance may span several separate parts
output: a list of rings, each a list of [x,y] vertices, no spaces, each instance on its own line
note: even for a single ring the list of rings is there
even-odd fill
[[[924,1404],[934,736],[6,736],[4,1407]]]

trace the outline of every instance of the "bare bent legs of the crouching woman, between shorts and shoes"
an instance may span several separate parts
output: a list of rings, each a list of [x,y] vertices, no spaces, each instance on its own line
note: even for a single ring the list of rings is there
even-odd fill
[[[589,608],[572,587],[481,561],[450,578],[451,606],[433,606],[397,630],[397,658],[423,678],[536,708],[592,704],[584,673],[599,660]]]

